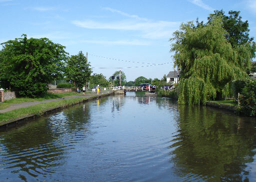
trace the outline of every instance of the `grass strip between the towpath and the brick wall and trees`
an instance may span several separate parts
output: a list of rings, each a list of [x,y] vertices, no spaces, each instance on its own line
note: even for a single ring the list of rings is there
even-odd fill
[[[57,98],[61,98],[61,97],[81,95],[81,94],[82,93],[76,93],[76,92],[47,93],[47,94],[43,95],[42,97],[38,97],[38,98],[28,98],[28,97],[15,98],[15,99],[10,99],[10,100],[0,103],[0,110],[7,108],[10,104],[18,104],[18,103],[22,103],[22,102],[43,101],[43,100],[47,100],[47,99],[57,99]],[[89,94],[89,93],[85,93],[85,94]]]

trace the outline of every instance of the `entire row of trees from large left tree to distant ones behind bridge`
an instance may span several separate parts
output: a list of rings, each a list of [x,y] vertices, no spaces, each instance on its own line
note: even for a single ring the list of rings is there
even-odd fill
[[[1,43],[0,50],[0,87],[16,91],[21,97],[39,97],[48,90],[48,84],[53,80],[61,80],[59,87],[72,85],[101,87],[113,86],[113,80],[108,80],[103,74],[91,74],[90,63],[79,51],[77,55],[65,52],[65,46],[53,43],[47,38],[20,38]],[[158,79],[146,79],[143,76],[134,81],[126,82],[124,72],[115,71],[114,86],[120,84],[138,86],[139,83],[158,83]],[[66,81],[69,84],[63,83]]]

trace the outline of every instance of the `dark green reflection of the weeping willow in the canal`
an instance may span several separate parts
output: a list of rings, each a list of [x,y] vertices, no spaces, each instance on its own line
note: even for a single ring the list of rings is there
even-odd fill
[[[254,119],[206,107],[179,106],[170,148],[174,171],[189,181],[247,181],[255,155]]]

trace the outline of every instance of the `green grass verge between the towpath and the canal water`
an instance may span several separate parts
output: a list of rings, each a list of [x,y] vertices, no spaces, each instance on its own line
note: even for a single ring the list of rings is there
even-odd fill
[[[11,119],[15,119],[15,118],[19,118],[19,117],[31,115],[31,114],[41,115],[48,109],[55,108],[55,107],[71,106],[71,105],[77,104],[78,102],[88,100],[94,96],[95,95],[92,95],[89,97],[76,97],[76,98],[70,98],[70,99],[63,99],[63,100],[58,100],[58,101],[49,102],[49,103],[40,103],[34,106],[29,106],[26,108],[20,108],[13,111],[1,113],[0,123],[3,121],[8,121]]]

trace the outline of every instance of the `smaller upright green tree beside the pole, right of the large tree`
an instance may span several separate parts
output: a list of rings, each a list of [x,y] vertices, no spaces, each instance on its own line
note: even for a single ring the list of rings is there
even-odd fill
[[[89,81],[91,72],[90,64],[82,51],[79,51],[77,55],[71,55],[66,61],[66,79],[70,80],[75,87],[80,88],[85,85]]]

